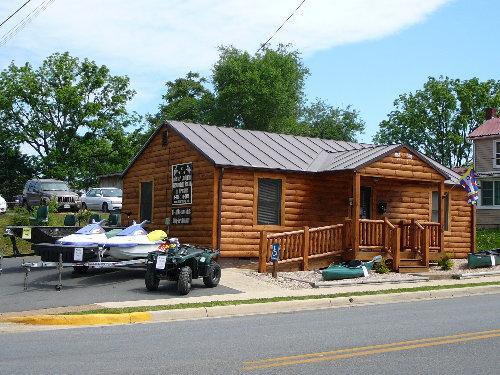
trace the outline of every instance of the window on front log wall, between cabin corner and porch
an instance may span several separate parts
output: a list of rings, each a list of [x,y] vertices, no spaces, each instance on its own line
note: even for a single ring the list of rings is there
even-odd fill
[[[281,180],[259,178],[257,224],[281,225]]]

